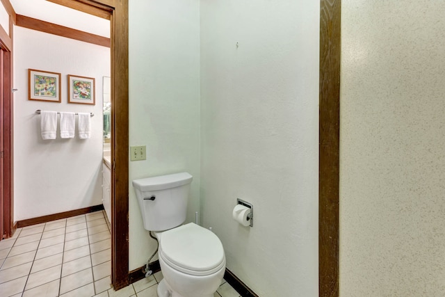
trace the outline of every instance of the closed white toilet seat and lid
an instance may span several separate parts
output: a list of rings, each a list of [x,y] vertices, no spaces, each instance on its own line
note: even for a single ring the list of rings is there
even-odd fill
[[[216,234],[194,223],[162,232],[159,256],[165,264],[190,275],[210,275],[225,266],[223,244]]]

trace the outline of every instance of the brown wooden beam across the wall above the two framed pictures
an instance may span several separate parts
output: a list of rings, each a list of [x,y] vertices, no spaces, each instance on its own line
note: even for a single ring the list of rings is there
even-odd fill
[[[44,22],[40,19],[33,19],[32,17],[26,17],[24,15],[17,15],[16,24],[17,26],[21,26],[27,29],[54,34],[65,38],[80,40],[83,42],[89,42],[93,45],[101,45],[102,47],[110,47],[111,44],[110,38],[79,31],[76,29],[71,29],[49,22]]]

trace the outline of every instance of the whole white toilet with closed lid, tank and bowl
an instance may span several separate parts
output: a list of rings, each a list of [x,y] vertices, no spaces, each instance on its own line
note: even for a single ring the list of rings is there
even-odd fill
[[[159,297],[213,297],[225,273],[218,236],[186,220],[193,177],[187,172],[133,180],[145,230],[159,241]]]

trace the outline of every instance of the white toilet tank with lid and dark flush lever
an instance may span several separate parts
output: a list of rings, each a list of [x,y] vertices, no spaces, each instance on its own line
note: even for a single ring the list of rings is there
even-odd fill
[[[181,172],[133,180],[145,230],[163,231],[184,223],[192,179]]]

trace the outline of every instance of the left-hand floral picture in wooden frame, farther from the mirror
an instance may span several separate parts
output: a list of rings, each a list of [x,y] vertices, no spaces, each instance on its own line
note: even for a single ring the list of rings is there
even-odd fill
[[[28,89],[30,100],[60,103],[60,73],[29,69]]]

